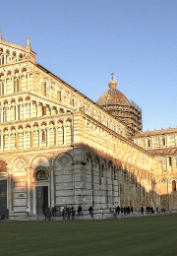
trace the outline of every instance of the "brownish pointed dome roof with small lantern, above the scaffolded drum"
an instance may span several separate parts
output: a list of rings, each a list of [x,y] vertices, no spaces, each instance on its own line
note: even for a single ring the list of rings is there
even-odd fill
[[[115,80],[111,80],[108,85],[110,89],[106,91],[102,96],[99,97],[99,99],[96,101],[98,105],[108,105],[108,104],[120,104],[120,105],[128,105],[128,106],[131,105],[128,98],[116,89],[117,83]]]

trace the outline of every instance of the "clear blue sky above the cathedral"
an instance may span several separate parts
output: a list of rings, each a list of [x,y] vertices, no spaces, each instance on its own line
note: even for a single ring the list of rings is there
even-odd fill
[[[96,101],[111,73],[144,131],[176,127],[176,0],[1,0],[3,39]]]

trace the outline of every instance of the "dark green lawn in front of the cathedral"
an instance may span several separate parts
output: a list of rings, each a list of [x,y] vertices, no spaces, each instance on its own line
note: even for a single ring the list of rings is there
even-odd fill
[[[0,255],[177,255],[177,215],[0,222]]]

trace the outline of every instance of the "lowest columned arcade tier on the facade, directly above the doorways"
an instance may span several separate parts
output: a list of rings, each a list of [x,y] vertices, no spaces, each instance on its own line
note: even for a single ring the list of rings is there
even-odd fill
[[[73,143],[73,128],[71,119],[66,119],[63,123],[58,121],[56,125],[46,122],[41,125],[34,125],[30,127],[27,125],[26,129],[20,126],[18,130],[12,127],[11,130],[5,128],[1,132],[0,148],[1,152],[13,150],[25,150],[35,147],[71,145]]]

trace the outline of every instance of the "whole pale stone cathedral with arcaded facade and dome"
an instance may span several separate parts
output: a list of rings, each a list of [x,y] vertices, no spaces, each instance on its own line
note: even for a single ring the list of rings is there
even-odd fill
[[[100,94],[103,92],[100,92]],[[144,132],[112,74],[96,102],[0,35],[0,215],[142,206],[177,210],[177,128]]]

